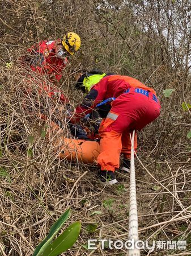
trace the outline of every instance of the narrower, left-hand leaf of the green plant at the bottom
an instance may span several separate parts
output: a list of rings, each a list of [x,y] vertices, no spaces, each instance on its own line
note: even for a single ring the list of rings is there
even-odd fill
[[[58,218],[58,220],[52,225],[52,227],[50,228],[50,232],[48,234],[48,236],[36,247],[34,253],[32,256],[36,256],[41,247],[43,247],[43,245],[48,241],[52,241],[53,238],[56,236],[56,234],[58,233],[58,231],[62,228],[62,225],[64,224],[64,222],[67,220],[67,218],[70,215],[70,209],[67,209],[66,212],[64,212],[60,218]],[[40,254],[39,254],[40,255]]]

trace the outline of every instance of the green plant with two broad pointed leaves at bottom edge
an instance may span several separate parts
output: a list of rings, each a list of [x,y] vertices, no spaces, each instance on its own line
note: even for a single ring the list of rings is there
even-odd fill
[[[32,256],[57,256],[68,250],[79,236],[81,224],[79,221],[71,224],[60,236],[53,241],[53,238],[62,228],[64,222],[70,215],[70,209],[52,225],[48,236],[36,247]]]

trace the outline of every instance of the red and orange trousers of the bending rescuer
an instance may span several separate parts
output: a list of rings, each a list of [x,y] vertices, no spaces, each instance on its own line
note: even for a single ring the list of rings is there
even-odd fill
[[[120,154],[130,158],[131,142],[129,134],[133,130],[142,130],[160,114],[160,104],[153,100],[152,93],[146,95],[135,93],[121,94],[112,102],[112,109],[100,125],[100,154],[97,163],[101,170],[114,171],[119,168]],[[156,96],[155,96],[156,97]],[[156,99],[156,98],[155,98]],[[137,134],[134,139],[137,150]]]

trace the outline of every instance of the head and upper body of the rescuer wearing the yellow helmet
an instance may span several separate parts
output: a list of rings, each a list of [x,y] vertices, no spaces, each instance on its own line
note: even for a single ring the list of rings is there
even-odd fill
[[[25,58],[30,68],[41,75],[48,74],[50,80],[60,81],[62,70],[68,63],[67,56],[74,55],[80,48],[80,37],[68,32],[62,39],[44,40],[27,49],[30,56]]]

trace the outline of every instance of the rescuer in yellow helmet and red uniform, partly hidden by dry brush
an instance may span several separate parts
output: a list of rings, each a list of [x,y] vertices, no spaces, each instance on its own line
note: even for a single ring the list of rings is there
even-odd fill
[[[67,56],[74,55],[79,48],[80,37],[74,32],[67,33],[62,39],[44,40],[28,48],[29,55],[23,57],[22,64],[25,67],[29,66],[29,69],[39,73],[39,75],[48,75],[50,84],[45,80],[39,81],[37,77],[31,75],[27,77],[27,82],[30,83],[32,80],[39,85],[40,93],[44,90],[50,98],[56,96],[60,98],[60,101],[67,102],[64,93],[58,90],[55,83],[62,78],[63,68],[68,63]],[[54,87],[51,83],[54,84]]]

